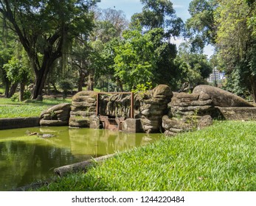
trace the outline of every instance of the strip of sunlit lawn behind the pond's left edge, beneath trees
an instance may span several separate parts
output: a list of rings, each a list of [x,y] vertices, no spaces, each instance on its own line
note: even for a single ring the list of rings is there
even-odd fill
[[[71,102],[71,99],[44,99],[43,102],[29,100],[28,102],[12,102],[0,98],[0,118],[35,117],[55,104]]]

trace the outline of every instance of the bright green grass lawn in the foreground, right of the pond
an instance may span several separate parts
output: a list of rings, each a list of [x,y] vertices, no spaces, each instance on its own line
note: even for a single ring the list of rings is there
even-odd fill
[[[255,127],[255,121],[216,121],[118,153],[41,191],[256,191]]]

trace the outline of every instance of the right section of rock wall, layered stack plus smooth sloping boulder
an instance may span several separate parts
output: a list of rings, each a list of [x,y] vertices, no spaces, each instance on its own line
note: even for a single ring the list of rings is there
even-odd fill
[[[212,124],[212,118],[256,119],[256,107],[239,96],[210,85],[198,85],[193,93],[174,93],[162,118],[165,135],[176,135]]]

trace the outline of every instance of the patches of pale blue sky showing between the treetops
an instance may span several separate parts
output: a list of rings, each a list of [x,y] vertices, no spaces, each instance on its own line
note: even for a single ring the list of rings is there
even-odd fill
[[[188,12],[188,7],[191,0],[171,0],[173,2],[173,8],[176,10],[176,15],[185,22],[187,18],[190,18],[190,14]],[[122,10],[126,18],[130,20],[131,15],[134,13],[142,12],[142,4],[139,0],[101,0],[100,3],[97,4],[98,7],[102,9],[112,8],[115,10]],[[173,40],[173,43],[176,43],[177,46],[184,41],[182,38],[178,40]],[[212,46],[206,46],[204,49],[204,53],[210,57],[213,54]]]

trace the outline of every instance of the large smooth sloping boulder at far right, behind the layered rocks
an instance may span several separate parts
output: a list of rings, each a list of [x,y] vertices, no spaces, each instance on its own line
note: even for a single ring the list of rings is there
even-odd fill
[[[253,107],[245,99],[220,88],[210,85],[198,85],[193,93],[204,93],[210,96],[212,104],[217,107]]]

